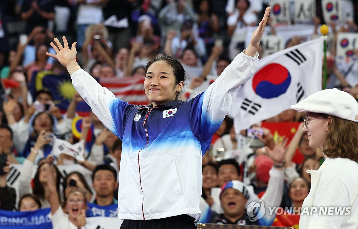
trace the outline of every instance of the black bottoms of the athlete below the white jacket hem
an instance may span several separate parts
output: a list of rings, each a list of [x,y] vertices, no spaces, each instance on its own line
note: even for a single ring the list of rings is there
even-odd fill
[[[125,219],[121,229],[195,229],[194,218],[177,215],[163,219],[131,220]]]

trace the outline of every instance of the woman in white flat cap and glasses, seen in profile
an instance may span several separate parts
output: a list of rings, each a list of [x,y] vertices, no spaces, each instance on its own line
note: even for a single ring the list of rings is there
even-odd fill
[[[291,108],[306,113],[303,131],[309,145],[325,157],[318,170],[307,170],[311,190],[302,205],[300,228],[358,228],[357,101],[347,92],[326,89]]]

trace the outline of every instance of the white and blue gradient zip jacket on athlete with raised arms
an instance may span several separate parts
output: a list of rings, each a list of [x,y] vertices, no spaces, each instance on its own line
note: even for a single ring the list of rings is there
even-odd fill
[[[93,113],[123,141],[118,218],[188,214],[199,220],[202,156],[231,107],[230,92],[253,75],[257,57],[240,53],[202,94],[154,108],[116,98],[82,69],[72,74]]]

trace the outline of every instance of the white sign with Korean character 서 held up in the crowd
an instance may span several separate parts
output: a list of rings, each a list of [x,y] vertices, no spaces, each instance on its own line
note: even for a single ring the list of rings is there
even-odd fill
[[[315,0],[295,0],[295,24],[313,24],[315,16]]]

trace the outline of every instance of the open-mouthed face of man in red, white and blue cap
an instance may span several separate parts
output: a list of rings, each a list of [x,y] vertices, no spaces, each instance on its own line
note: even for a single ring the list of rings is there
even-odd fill
[[[245,211],[247,199],[239,190],[228,188],[220,196],[221,207],[224,215],[230,218],[242,216]]]

